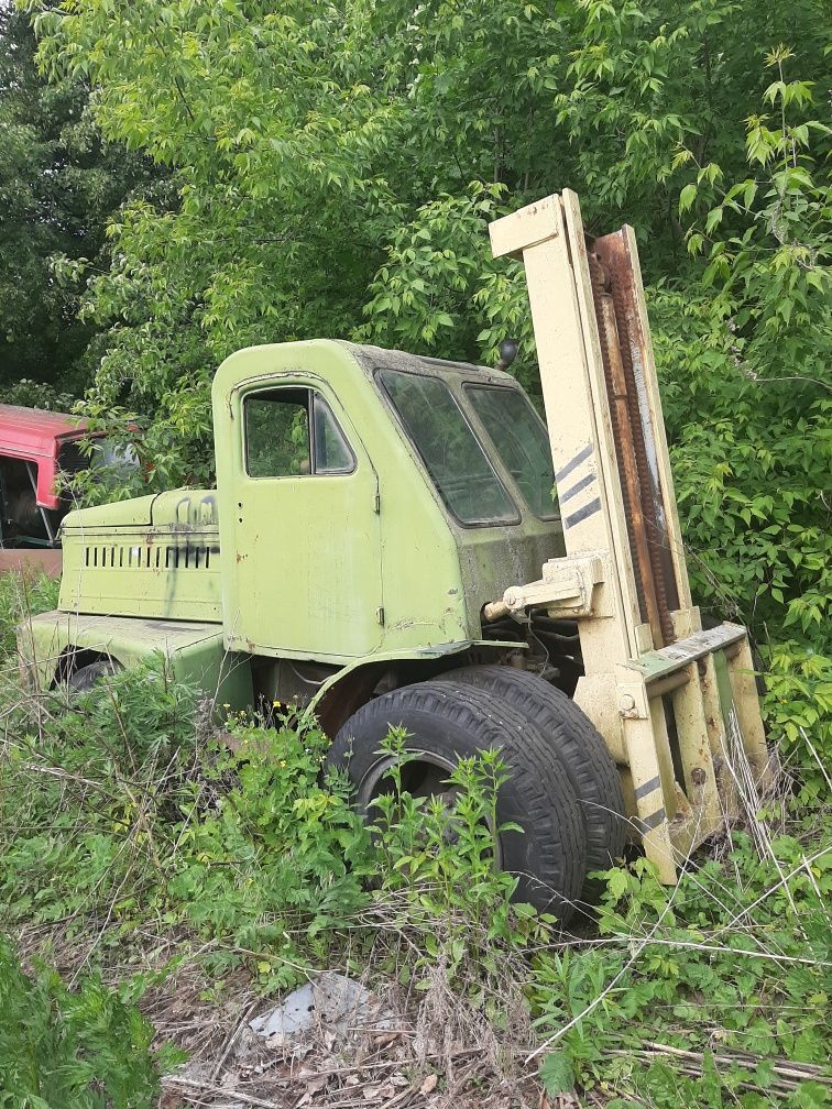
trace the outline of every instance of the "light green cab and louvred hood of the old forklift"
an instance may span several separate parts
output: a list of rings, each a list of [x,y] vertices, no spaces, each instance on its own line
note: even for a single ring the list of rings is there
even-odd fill
[[[70,513],[33,679],[161,651],[219,703],[336,728],[386,671],[505,652],[481,608],[562,553],[545,429],[507,374],[333,340],[240,350],[213,385],[216,490]],[[433,670],[432,670],[433,668]]]

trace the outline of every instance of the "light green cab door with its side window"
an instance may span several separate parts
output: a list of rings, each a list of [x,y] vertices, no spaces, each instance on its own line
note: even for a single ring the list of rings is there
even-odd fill
[[[355,429],[308,379],[244,387],[240,415],[230,641],[334,661],[371,653],[384,623],[379,495]]]

